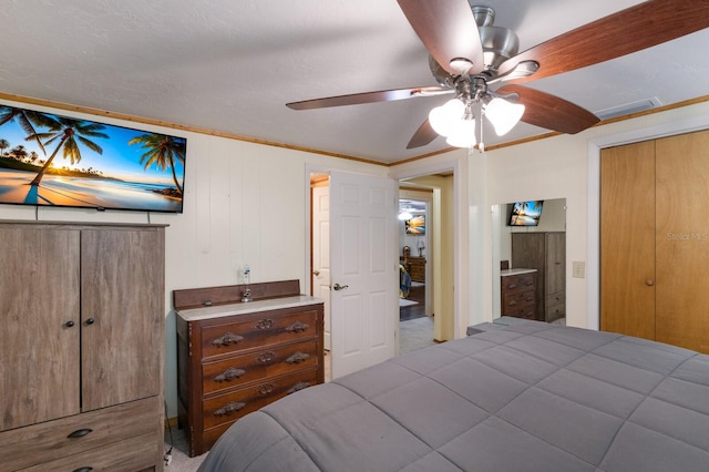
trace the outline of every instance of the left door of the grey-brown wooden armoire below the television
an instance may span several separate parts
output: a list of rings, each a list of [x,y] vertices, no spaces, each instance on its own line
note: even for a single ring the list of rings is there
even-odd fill
[[[80,412],[79,232],[2,224],[0,242],[2,431]]]

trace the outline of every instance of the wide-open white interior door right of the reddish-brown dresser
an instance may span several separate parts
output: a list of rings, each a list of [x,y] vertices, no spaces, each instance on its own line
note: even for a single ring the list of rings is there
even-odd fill
[[[394,356],[395,181],[330,173],[332,378]]]

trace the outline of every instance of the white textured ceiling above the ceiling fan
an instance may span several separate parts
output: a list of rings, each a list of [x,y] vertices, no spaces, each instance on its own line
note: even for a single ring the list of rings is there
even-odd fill
[[[464,1],[464,0],[462,0]],[[521,51],[637,0],[485,0]],[[394,0],[0,0],[0,93],[392,163],[449,98],[292,111],[322,96],[435,85]],[[661,19],[660,19],[661,20]],[[658,21],[660,21],[658,20]],[[623,38],[618,39],[619,41]],[[592,112],[709,95],[709,29],[528,82]],[[546,133],[520,124],[490,146]]]

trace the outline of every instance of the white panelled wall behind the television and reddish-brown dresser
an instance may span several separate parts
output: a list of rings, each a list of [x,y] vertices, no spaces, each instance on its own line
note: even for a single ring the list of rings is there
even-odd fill
[[[307,168],[386,175],[384,166],[205,134],[182,132],[3,101],[4,104],[107,124],[187,137],[183,214],[151,213],[165,232],[165,397],[167,415],[177,414],[175,316],[172,291],[239,284],[248,264],[251,281],[299,279],[305,290],[308,256]],[[0,127],[1,135],[1,127]],[[145,212],[39,208],[40,220],[148,223]],[[35,208],[0,205],[2,219],[34,219]]]

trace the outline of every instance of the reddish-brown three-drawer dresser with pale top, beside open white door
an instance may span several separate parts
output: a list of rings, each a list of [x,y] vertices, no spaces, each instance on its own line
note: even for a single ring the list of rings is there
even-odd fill
[[[207,452],[236,420],[322,383],[322,300],[298,280],[175,290],[179,424],[189,455]],[[198,308],[194,308],[194,307]]]

